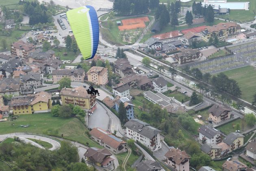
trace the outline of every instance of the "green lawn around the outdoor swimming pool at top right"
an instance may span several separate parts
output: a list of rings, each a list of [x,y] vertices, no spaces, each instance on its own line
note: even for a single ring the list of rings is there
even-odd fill
[[[249,10],[231,10],[229,15],[219,15],[217,17],[223,19],[230,19],[235,22],[243,23],[249,22],[254,19],[256,14],[256,1],[255,0],[228,0],[228,2],[249,2]]]

